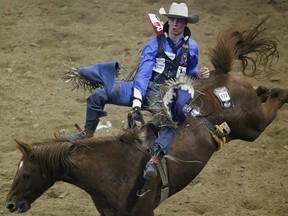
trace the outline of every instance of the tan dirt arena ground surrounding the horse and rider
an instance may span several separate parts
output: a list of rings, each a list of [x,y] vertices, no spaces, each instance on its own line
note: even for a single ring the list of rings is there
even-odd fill
[[[166,10],[167,0],[1,0],[0,1],[0,215],[8,215],[5,198],[20,152],[13,139],[31,143],[53,136],[59,129],[75,131],[83,125],[88,92],[71,91],[61,81],[64,62],[88,66],[119,61],[136,65],[139,50],[155,34],[147,13]],[[276,74],[253,85],[287,87],[287,0],[189,0],[190,12],[201,20],[191,25],[199,44],[199,66],[210,66],[207,53],[219,31],[248,27],[269,15],[265,25],[278,41]],[[161,17],[163,20],[164,17]],[[240,74],[239,74],[240,75]],[[102,119],[117,132],[130,108],[107,106]],[[119,114],[122,112],[123,114]],[[200,175],[184,190],[167,199],[157,216],[288,215],[288,106],[253,143],[233,141],[215,153]],[[99,215],[88,195],[59,182],[24,215]]]

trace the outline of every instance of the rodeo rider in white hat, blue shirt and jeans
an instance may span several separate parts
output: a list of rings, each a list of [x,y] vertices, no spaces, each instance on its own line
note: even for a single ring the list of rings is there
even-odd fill
[[[191,32],[187,24],[195,24],[199,21],[197,14],[188,15],[185,3],[173,2],[169,12],[160,8],[159,13],[168,17],[164,24],[164,34],[158,35],[149,41],[142,49],[139,69],[131,88],[131,95],[125,85],[125,91],[119,91],[118,84],[113,86],[113,93],[107,93],[103,88],[95,89],[87,99],[85,129],[78,134],[61,135],[64,140],[76,140],[92,137],[99,123],[99,118],[107,115],[104,112],[106,103],[132,105],[130,114],[136,120],[143,120],[141,108],[148,105],[149,110],[157,112],[162,99],[160,86],[169,79],[188,75],[195,78],[208,78],[210,71],[204,67],[198,69],[198,45],[191,39]],[[125,92],[125,94],[123,94]],[[125,98],[125,99],[123,99]],[[119,100],[127,100],[129,102]],[[155,109],[153,109],[155,107]],[[157,176],[157,164],[168,153],[175,137],[174,129],[169,125],[163,125],[159,129],[158,138],[150,149],[151,159],[147,163],[143,177],[151,179]]]

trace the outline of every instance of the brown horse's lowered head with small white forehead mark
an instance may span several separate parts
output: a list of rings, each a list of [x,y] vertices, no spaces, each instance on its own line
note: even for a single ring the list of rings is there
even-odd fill
[[[28,145],[15,141],[22,153],[22,158],[6,198],[6,208],[10,212],[26,212],[30,209],[31,203],[68,172],[71,163],[67,161],[65,155],[70,151],[72,144],[57,143],[58,147],[55,148],[57,144]]]

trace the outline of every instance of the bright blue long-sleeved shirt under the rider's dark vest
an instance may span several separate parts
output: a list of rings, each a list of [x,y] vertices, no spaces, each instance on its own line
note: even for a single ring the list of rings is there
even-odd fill
[[[181,41],[184,40],[184,37],[178,41],[178,43],[175,42],[175,46],[181,43]],[[163,47],[164,51],[168,53],[173,53],[172,48],[168,44],[168,41],[166,38],[163,40]],[[177,50],[176,55],[179,54],[180,48]],[[187,65],[187,73],[186,75],[196,77],[196,74],[198,72],[198,45],[196,41],[189,38],[189,50],[190,50],[190,61]],[[133,88],[138,89],[141,92],[142,98],[146,95],[146,90],[148,87],[148,84],[152,77],[153,67],[156,60],[156,55],[158,52],[158,42],[157,37],[149,41],[142,49],[140,61],[139,61],[139,69],[133,84]]]

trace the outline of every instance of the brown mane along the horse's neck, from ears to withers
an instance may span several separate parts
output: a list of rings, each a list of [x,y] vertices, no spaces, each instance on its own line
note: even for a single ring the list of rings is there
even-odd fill
[[[117,136],[103,136],[100,138],[89,138],[73,142],[61,140],[45,140],[43,142],[32,143],[31,155],[29,157],[39,161],[43,174],[51,181],[59,179],[59,174],[65,175],[73,166],[78,166],[77,161],[69,156],[82,147],[91,148],[91,145],[99,145],[111,141],[120,141],[119,143],[132,144],[139,139],[139,129],[126,129]],[[57,169],[58,168],[58,169]],[[61,172],[59,171],[61,169]]]

